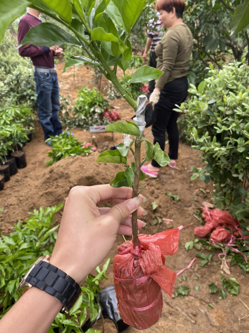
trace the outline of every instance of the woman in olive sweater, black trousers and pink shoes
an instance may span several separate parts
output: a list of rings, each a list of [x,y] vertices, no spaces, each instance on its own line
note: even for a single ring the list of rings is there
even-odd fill
[[[156,81],[155,89],[150,95],[155,116],[152,133],[154,144],[158,142],[164,151],[165,131],[167,131],[171,167],[176,166],[179,143],[178,112],[173,109],[188,95],[187,72],[193,47],[192,33],[182,20],[184,9],[183,0],[158,0],[156,5],[156,10],[160,13],[159,20],[167,31],[155,48],[158,57],[157,69],[164,73]],[[157,177],[159,169],[159,164],[154,160],[141,168],[154,178]]]

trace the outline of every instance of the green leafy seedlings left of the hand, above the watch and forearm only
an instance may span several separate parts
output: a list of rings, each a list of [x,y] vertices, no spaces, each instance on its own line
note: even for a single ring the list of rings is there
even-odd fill
[[[24,224],[18,221],[14,225],[14,232],[0,237],[0,304],[3,304],[3,313],[14,301],[18,299],[16,289],[32,264],[41,256],[51,254],[56,240],[53,225],[54,214],[63,207],[43,208],[30,212],[31,215]]]

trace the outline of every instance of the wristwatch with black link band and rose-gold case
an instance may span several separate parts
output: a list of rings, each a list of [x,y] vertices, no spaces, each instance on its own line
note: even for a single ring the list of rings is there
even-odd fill
[[[17,288],[21,296],[29,288],[36,287],[57,298],[63,305],[61,313],[69,313],[81,294],[80,286],[61,269],[49,263],[50,255],[41,256]]]

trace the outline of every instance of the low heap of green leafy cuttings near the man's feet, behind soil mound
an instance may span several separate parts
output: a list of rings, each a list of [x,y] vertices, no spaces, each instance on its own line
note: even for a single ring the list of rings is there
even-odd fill
[[[79,142],[77,138],[74,138],[73,135],[67,135],[67,132],[64,132],[56,137],[50,137],[46,140],[46,143],[50,142],[51,152],[48,152],[48,157],[51,160],[46,161],[47,166],[58,162],[59,160],[64,159],[67,156],[76,156],[93,153],[93,146],[83,147],[85,143]]]

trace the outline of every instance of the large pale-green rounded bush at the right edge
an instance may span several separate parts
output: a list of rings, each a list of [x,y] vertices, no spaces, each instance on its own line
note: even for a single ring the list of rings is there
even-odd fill
[[[249,67],[245,59],[221,70],[210,65],[208,76],[198,88],[191,84],[193,96],[180,107],[185,135],[206,164],[191,179],[212,180],[218,207],[248,223]]]

